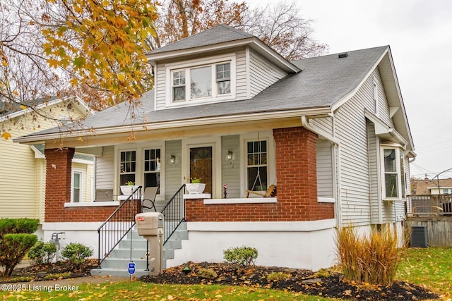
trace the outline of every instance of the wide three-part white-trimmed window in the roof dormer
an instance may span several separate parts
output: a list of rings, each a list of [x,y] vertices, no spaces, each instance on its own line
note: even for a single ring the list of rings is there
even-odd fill
[[[231,62],[171,70],[172,102],[224,97],[232,94]],[[186,85],[189,82],[190,86]],[[214,84],[213,84],[214,83]]]

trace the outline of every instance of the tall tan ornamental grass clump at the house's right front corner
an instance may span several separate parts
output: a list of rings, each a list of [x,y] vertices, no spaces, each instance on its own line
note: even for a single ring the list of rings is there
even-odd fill
[[[391,285],[405,247],[398,247],[395,230],[383,226],[369,235],[359,235],[355,228],[338,229],[338,259],[348,281]]]

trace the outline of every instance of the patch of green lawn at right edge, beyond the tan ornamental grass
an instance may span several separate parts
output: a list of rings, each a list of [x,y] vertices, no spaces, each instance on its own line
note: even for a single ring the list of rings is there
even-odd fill
[[[403,258],[396,278],[425,286],[452,299],[452,248],[410,248]]]

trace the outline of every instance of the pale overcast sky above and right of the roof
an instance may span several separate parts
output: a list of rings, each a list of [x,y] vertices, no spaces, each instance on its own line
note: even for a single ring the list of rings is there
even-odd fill
[[[274,2],[246,0],[251,7]],[[452,1],[296,2],[329,54],[391,46],[417,154],[411,174],[432,178],[452,168]]]

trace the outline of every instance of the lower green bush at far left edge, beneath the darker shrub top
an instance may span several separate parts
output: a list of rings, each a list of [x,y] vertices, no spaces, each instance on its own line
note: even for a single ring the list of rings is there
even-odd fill
[[[28,233],[5,234],[0,239],[0,264],[5,266],[5,276],[11,276],[13,269],[37,242],[37,236]]]

